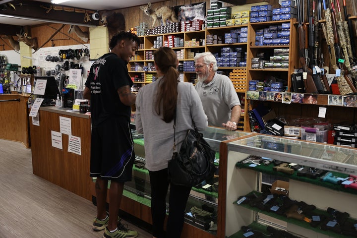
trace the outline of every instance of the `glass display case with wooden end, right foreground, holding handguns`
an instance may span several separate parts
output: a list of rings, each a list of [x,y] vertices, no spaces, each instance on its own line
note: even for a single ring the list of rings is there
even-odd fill
[[[357,235],[356,226],[353,225],[357,224],[357,210],[351,209],[355,207],[357,187],[345,185],[356,183],[356,149],[261,134],[223,144],[225,146],[221,146],[221,153],[227,153],[226,207],[222,208],[226,237],[246,237],[246,230],[241,228],[254,227],[256,224],[265,225],[262,226],[263,230],[272,226],[308,238],[350,238]],[[287,167],[280,170],[279,166],[284,162]],[[307,178],[302,173],[306,168],[321,174]],[[269,192],[262,191],[264,174],[279,175],[287,182],[275,181],[270,188],[270,195],[267,195]],[[270,206],[267,200],[261,203],[254,200],[263,195],[274,198],[273,205]],[[285,202],[279,203],[278,199],[307,204],[312,207],[311,213],[305,215],[302,209],[305,220],[293,218],[287,215],[291,207]],[[275,209],[280,208],[287,210],[276,212]],[[330,216],[335,216],[331,211],[346,216],[344,224],[352,224],[352,233],[341,235],[345,225],[333,220],[335,217],[329,222]],[[318,222],[314,221],[316,216],[311,215],[316,213],[319,214]],[[334,230],[339,230],[339,234]],[[261,232],[270,234],[266,230]]]

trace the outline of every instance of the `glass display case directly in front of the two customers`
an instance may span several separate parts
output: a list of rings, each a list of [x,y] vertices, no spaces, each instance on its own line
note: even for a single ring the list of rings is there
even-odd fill
[[[186,206],[185,222],[212,234],[212,237],[216,237],[217,233],[220,143],[250,134],[242,131],[227,131],[217,127],[207,127],[203,131],[203,137],[216,151],[216,172],[212,180],[192,187]],[[150,206],[150,179],[148,171],[145,169],[144,138],[135,130],[133,137],[136,155],[133,179],[131,182],[125,183],[123,194],[136,202]],[[167,201],[169,201],[168,198]],[[167,211],[169,212],[169,210],[168,204]]]

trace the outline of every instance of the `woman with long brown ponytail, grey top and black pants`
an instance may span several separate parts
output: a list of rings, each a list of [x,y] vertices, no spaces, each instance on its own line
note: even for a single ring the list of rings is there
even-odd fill
[[[142,87],[136,98],[136,130],[144,134],[146,168],[151,184],[153,237],[164,238],[166,195],[170,185],[168,238],[179,238],[184,211],[191,187],[170,184],[168,161],[173,155],[174,118],[176,117],[176,151],[193,122],[202,131],[207,125],[201,100],[191,83],[180,82],[176,53],[168,47],[154,52],[159,79]]]

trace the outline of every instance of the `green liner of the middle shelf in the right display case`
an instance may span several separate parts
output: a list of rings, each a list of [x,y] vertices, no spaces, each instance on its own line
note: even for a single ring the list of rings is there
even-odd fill
[[[248,193],[246,195],[250,195],[253,192],[255,194],[262,194],[262,193],[257,192],[257,191],[251,191],[250,193]],[[321,233],[321,234],[324,234],[324,235],[327,235],[327,236],[331,236],[331,237],[334,237],[334,238],[353,238],[352,236],[345,236],[345,235],[340,235],[340,234],[337,234],[337,233],[334,233],[334,232],[330,232],[330,231],[320,230],[319,228],[311,227],[309,225],[309,223],[307,223],[307,222],[300,221],[300,220],[297,220],[297,219],[294,219],[294,218],[287,218],[285,216],[278,215],[278,214],[276,214],[274,212],[262,211],[262,210],[260,210],[260,209],[258,209],[256,207],[251,207],[248,204],[240,204],[240,205],[238,205],[237,201],[233,202],[233,204],[235,204],[237,206],[241,206],[241,207],[247,208],[247,209],[252,210],[252,211],[256,211],[256,212],[265,214],[267,216],[270,216],[270,217],[273,217],[273,218],[276,218],[276,219],[279,219],[279,220],[282,220],[282,221],[285,221],[285,222],[288,222],[288,223],[291,223],[291,224],[294,224],[294,225],[297,225],[297,226],[305,228],[305,229],[312,230],[312,231],[317,232],[317,233]],[[316,214],[321,214],[321,215],[325,215],[325,216],[329,216],[330,215],[329,213],[327,213],[325,211],[322,211],[322,210],[319,210],[319,209],[315,209],[313,212],[315,212]],[[341,211],[341,212],[344,212],[344,211]],[[356,220],[351,219],[351,218],[349,218],[348,221],[357,223]],[[236,238],[236,237],[234,237],[234,238]]]

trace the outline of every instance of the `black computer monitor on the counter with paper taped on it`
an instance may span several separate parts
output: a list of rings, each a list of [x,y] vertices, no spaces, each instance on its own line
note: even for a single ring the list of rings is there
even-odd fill
[[[54,76],[35,76],[36,81],[39,79],[46,80],[46,88],[44,95],[37,95],[38,98],[43,98],[43,102],[41,106],[50,106],[55,105],[55,100],[57,99],[57,95],[60,94],[59,87],[57,85],[56,79]]]

